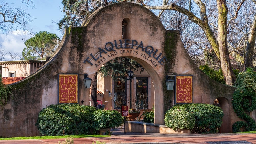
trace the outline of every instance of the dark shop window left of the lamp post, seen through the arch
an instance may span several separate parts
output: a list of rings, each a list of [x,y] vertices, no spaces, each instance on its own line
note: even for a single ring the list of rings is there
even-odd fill
[[[119,78],[114,83],[114,109],[121,109],[126,105],[126,82]]]

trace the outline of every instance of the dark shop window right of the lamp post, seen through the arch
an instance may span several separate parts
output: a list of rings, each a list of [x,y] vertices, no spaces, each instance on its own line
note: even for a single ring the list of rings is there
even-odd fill
[[[148,77],[136,77],[136,105],[148,107]]]

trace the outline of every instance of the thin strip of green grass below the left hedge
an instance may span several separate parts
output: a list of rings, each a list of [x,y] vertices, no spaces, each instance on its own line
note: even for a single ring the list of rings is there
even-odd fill
[[[58,138],[87,138],[87,137],[110,137],[106,135],[66,135],[66,136],[41,136],[41,137],[13,137],[13,138],[0,138],[0,140],[19,140],[19,139],[58,139]]]

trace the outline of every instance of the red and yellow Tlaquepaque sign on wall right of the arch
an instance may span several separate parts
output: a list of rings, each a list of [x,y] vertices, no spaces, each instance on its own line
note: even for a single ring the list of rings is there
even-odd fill
[[[176,76],[176,103],[193,103],[193,76]]]

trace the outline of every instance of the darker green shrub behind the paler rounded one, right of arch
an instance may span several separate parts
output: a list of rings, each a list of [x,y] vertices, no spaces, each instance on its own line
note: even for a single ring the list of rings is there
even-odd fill
[[[220,107],[210,105],[210,104],[202,104],[202,103],[174,105],[169,111],[173,111],[173,110],[187,111],[194,115],[195,126],[191,130],[192,133],[218,132],[218,128],[221,126],[222,118],[224,116],[224,113]],[[165,116],[167,116],[167,113]],[[184,114],[183,114],[183,117],[184,119],[186,119]]]

